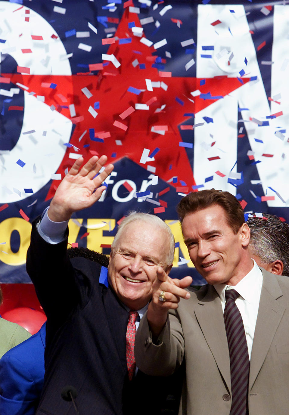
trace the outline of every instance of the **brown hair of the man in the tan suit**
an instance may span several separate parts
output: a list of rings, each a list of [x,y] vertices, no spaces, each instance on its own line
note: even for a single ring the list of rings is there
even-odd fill
[[[206,189],[199,192],[191,192],[181,199],[176,207],[181,223],[186,215],[197,212],[213,205],[223,207],[228,225],[233,229],[234,234],[238,233],[245,222],[242,206],[229,192],[222,190]]]

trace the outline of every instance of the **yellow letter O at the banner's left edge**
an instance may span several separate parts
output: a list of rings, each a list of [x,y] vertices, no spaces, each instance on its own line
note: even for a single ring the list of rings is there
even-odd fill
[[[30,244],[31,223],[22,217],[8,217],[0,223],[0,235],[3,238],[0,242],[0,261],[7,265],[22,265],[26,262],[27,249]],[[20,235],[20,247],[18,252],[13,252],[10,246],[12,232],[16,230]],[[6,252],[3,253],[1,251]]]

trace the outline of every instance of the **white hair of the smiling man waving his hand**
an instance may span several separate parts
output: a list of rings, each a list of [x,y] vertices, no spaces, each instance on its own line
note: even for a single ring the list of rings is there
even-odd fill
[[[174,261],[174,249],[175,249],[175,241],[174,241],[174,235],[171,232],[171,229],[169,226],[158,216],[150,215],[149,213],[143,213],[143,212],[130,212],[125,219],[122,220],[118,227],[118,232],[116,233],[113,243],[111,244],[111,249],[115,248],[115,245],[118,242],[118,239],[120,238],[123,230],[125,227],[135,220],[139,220],[140,222],[146,222],[149,223],[149,225],[153,225],[154,227],[158,227],[162,229],[164,232],[167,233],[168,242],[169,242],[169,251],[167,252],[167,264],[165,265],[171,265]],[[156,229],[157,232],[157,229]]]

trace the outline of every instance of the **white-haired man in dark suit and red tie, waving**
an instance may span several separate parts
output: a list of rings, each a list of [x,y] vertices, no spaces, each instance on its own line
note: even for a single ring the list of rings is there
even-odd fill
[[[100,198],[105,189],[100,185],[113,170],[113,165],[103,168],[106,161],[94,156],[81,168],[78,159],[32,229],[27,271],[47,315],[46,373],[37,415],[159,413],[169,393],[163,388],[159,396],[160,382],[137,370],[133,354],[157,273],[167,275],[172,266],[169,227],[154,215],[125,218],[108,271],[67,256],[67,222]],[[66,388],[65,396],[66,386],[73,388]],[[70,400],[74,394],[75,402],[62,399],[61,392]]]

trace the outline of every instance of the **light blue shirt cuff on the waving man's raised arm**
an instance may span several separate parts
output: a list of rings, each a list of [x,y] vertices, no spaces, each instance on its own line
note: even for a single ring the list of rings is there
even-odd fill
[[[40,222],[36,225],[37,230],[44,241],[53,245],[59,244],[59,242],[62,242],[65,239],[64,235],[69,221],[53,222],[53,220],[49,219],[47,214],[48,208],[49,207],[44,210]]]

